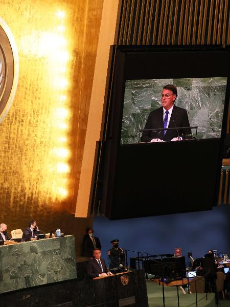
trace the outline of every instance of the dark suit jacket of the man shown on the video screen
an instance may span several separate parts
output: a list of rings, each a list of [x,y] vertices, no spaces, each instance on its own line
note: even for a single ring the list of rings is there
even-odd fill
[[[149,114],[145,129],[164,128],[163,121],[164,110],[159,107]],[[168,128],[189,127],[189,119],[186,109],[173,106],[172,115],[170,117]],[[182,137],[183,139],[191,139],[191,129],[172,129],[167,130],[164,135],[162,131],[144,131],[141,137],[142,142],[150,142],[152,139],[161,139],[163,141],[171,141],[173,138]]]

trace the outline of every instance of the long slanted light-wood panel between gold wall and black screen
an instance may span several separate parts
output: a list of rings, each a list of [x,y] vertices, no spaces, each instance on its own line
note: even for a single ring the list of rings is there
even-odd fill
[[[104,3],[75,212],[76,217],[87,217],[89,215],[90,192],[93,189],[95,157],[97,156],[96,143],[102,139],[109,53],[110,46],[114,45],[117,39],[118,12],[119,0]]]

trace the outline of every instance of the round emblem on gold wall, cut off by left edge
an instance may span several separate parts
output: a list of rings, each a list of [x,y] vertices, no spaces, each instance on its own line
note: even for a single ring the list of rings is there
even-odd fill
[[[0,123],[6,117],[17,88],[18,54],[14,37],[0,17]]]

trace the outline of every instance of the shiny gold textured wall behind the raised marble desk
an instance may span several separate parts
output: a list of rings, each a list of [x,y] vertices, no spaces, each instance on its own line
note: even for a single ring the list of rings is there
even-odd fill
[[[0,223],[82,232],[75,212],[103,0],[0,0],[19,56],[0,125]],[[78,243],[79,245],[80,243]]]

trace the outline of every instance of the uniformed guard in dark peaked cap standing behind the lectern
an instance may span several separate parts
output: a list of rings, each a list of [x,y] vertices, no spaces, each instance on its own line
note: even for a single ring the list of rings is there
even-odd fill
[[[108,251],[108,256],[110,259],[110,269],[119,268],[124,270],[125,265],[125,253],[123,248],[118,247],[119,239],[111,240],[112,248]]]

